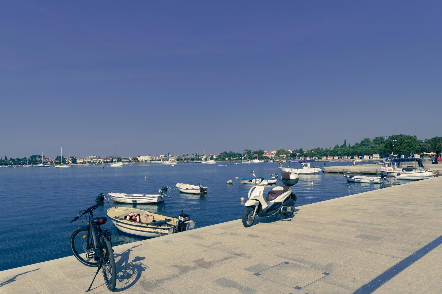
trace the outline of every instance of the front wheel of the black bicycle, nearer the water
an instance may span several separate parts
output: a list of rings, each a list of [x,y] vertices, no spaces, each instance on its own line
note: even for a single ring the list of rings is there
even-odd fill
[[[79,227],[72,232],[70,246],[75,258],[87,266],[98,266],[94,258],[92,235],[88,228]]]

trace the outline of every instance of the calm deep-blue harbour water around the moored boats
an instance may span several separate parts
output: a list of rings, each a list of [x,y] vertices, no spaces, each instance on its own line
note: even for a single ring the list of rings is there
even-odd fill
[[[348,165],[347,162],[327,163]],[[4,167],[0,168],[0,200],[3,208],[0,226],[0,270],[72,255],[69,237],[82,225],[70,221],[84,208],[95,204],[95,197],[109,192],[156,194],[164,185],[175,188],[177,182],[210,188],[207,195],[191,195],[179,190],[169,191],[159,205],[114,204],[100,206],[94,216],[105,216],[114,205],[144,209],[176,216],[182,209],[196,221],[196,227],[209,226],[241,218],[250,185],[228,185],[226,181],[257,176],[281,174],[277,163],[239,164],[217,167],[216,164],[128,164],[124,167],[95,165],[72,168]],[[316,162],[312,166],[324,167]],[[104,167],[104,168],[103,168]],[[144,177],[147,176],[147,179]],[[394,182],[391,185],[395,184]],[[293,191],[296,205],[305,205],[331,198],[380,189],[387,185],[347,183],[342,175],[301,175]],[[268,188],[267,190],[269,190]],[[113,244],[139,239],[117,231],[109,221],[106,228],[113,231]]]

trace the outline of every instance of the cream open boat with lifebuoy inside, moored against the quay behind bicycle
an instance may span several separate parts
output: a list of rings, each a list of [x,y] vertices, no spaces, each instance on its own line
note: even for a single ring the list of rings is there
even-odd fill
[[[118,230],[139,237],[159,237],[189,231],[195,227],[190,216],[166,216],[136,208],[111,207],[106,212]]]

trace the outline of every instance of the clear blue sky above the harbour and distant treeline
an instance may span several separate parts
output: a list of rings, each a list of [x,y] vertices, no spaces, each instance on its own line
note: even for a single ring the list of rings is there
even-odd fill
[[[430,138],[440,1],[9,1],[0,155]],[[437,107],[439,104],[439,107]],[[4,153],[4,154],[3,154]]]

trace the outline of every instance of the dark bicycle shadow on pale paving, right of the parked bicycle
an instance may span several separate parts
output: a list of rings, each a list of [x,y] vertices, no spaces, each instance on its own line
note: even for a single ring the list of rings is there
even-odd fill
[[[141,244],[126,249],[122,253],[114,253],[115,266],[117,269],[115,292],[124,291],[132,287],[140,279],[141,272],[149,268],[141,262],[145,257],[136,256],[130,261],[130,253],[138,246],[141,246]]]

